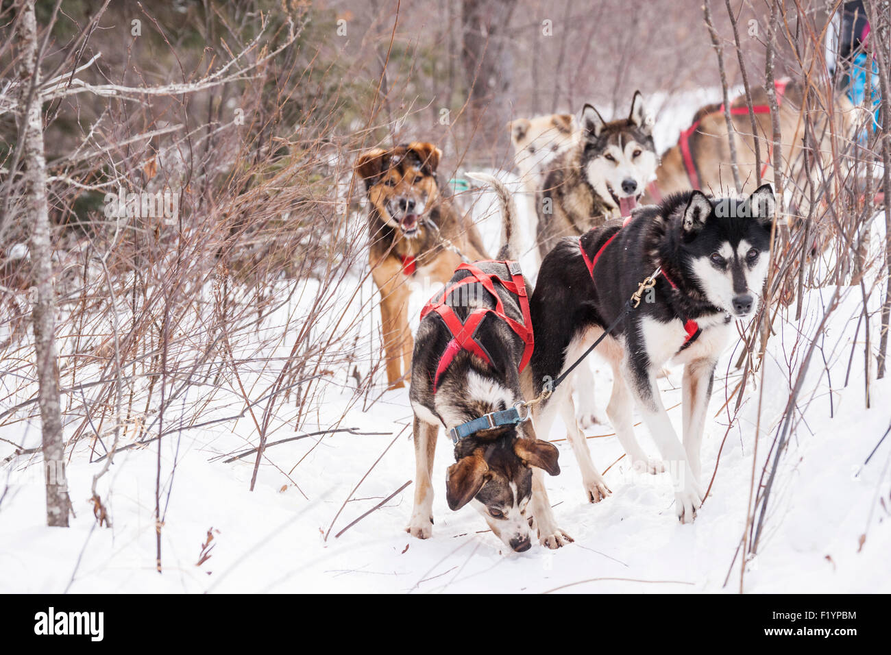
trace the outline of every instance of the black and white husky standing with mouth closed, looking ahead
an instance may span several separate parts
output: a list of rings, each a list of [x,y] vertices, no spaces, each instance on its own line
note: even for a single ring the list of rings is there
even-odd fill
[[[702,504],[699,445],[718,356],[733,318],[756,312],[767,274],[774,199],[764,184],[742,200],[677,193],[636,209],[579,238],[564,239],[542,262],[530,302],[535,353],[524,377],[539,394],[576,361],[619,315],[638,285],[655,271],[655,286],[595,352],[612,366],[607,415],[635,470],[656,473],[666,463],[674,479],[678,517],[693,520]],[[593,266],[592,266],[593,265]],[[658,395],[656,374],[669,360],[683,372],[683,446]],[[535,428],[546,438],[560,413],[589,500],[609,494],[575,415],[569,385],[538,405]],[[650,459],[634,438],[637,406],[664,460]]]

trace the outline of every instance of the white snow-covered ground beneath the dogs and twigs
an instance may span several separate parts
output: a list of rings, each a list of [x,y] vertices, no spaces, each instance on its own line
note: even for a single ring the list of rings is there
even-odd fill
[[[683,127],[683,120],[676,122],[678,129]],[[485,221],[484,233],[488,241],[497,241],[496,220]],[[874,242],[880,246],[884,236],[876,234]],[[367,299],[372,283],[364,284],[361,295]],[[413,327],[431,291],[413,294]],[[253,455],[233,463],[219,458],[254,442],[249,416],[185,430],[161,442],[161,504],[167,505],[160,528],[161,575],[155,570],[153,519],[157,443],[120,452],[102,479],[100,494],[110,528],[96,527],[93,517],[90,486],[102,464],[88,462],[86,441],[75,448],[69,463],[77,518],[67,530],[44,525],[39,461],[20,457],[5,464],[0,471],[0,493],[6,488],[0,504],[0,592],[739,591],[741,555],[732,562],[746,526],[753,465],[757,480],[768,456],[772,461],[769,450],[789,389],[834,291],[808,292],[800,323],[778,323],[764,364],[764,387],[748,385],[729,429],[735,398],[730,409],[725,399],[740,381],[740,372],[732,368],[737,353],[723,357],[702,449],[705,484],[716,466],[714,484],[692,525],[675,519],[666,474],[634,475],[624,459],[617,462],[622,449],[609,425],[594,426],[587,434],[595,463],[601,471],[610,467],[605,477],[613,494],[600,504],[586,503],[558,422],[552,434],[539,437],[556,440],[560,448],[562,472],[547,483],[560,526],[576,539],[574,544],[557,551],[535,545],[527,553],[509,553],[470,507],[449,511],[444,481],[454,459],[445,437],[435,463],[439,486],[432,538],[421,541],[404,531],[412,485],[337,536],[414,476],[407,390],[380,386],[372,394],[380,399],[369,405],[356,401],[354,391],[342,383],[347,372],[339,371],[332,376],[339,383],[329,385],[318,414],[301,430],[327,430],[339,422],[364,434],[335,432],[270,447],[253,492]],[[870,308],[877,310],[879,293],[873,296]],[[813,354],[799,395],[795,429],[781,457],[759,554],[747,563],[747,592],[891,592],[891,438],[863,465],[891,422],[891,380],[871,380],[867,409],[862,327],[854,336],[860,302],[859,287],[844,288],[820,335],[822,350]],[[282,308],[267,328],[274,330],[294,311],[299,308]],[[375,309],[358,326],[374,343],[378,321]],[[876,312],[871,317],[874,341],[878,323]],[[287,347],[273,348],[269,356],[286,354]],[[602,408],[609,370],[593,365]],[[680,431],[679,385],[680,370],[660,381]],[[233,413],[223,404],[221,398],[202,419]],[[339,421],[345,407],[349,409]],[[644,447],[656,454],[645,430],[638,430]],[[293,426],[283,418],[272,439],[289,436],[295,436]],[[39,425],[0,427],[0,437],[37,446]],[[0,443],[0,457],[10,452],[11,446]],[[199,564],[208,530],[213,549]]]

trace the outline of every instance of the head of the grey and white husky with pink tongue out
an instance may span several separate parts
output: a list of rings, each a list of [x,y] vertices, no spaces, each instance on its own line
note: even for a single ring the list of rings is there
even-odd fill
[[[627,119],[607,122],[592,105],[582,111],[582,168],[593,190],[625,216],[637,205],[656,175],[658,155],[653,143],[652,116],[634,92]]]

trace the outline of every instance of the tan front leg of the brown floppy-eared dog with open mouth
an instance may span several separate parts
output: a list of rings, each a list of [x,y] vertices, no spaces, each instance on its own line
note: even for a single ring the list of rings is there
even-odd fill
[[[405,283],[405,275],[394,258],[387,258],[379,266],[372,266],[372,277],[380,290],[380,329],[383,333],[384,354],[387,356],[388,388],[402,389],[405,387],[402,364],[405,363],[405,373],[408,373],[414,346],[412,332],[408,327],[410,290]]]

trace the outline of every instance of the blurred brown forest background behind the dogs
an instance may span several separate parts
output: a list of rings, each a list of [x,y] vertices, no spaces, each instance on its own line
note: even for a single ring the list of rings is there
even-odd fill
[[[753,84],[763,83],[764,47],[758,44],[766,8],[757,12],[753,4],[733,4],[741,38],[751,42],[743,44],[744,61],[757,71]],[[12,5],[3,3],[7,24]],[[50,22],[53,6],[51,0],[37,2],[39,25]],[[445,170],[459,163],[511,169],[505,129],[511,119],[577,113],[584,102],[609,115],[627,111],[635,89],[648,98],[662,92],[664,100],[719,84],[698,0],[113,0],[99,12],[101,7],[83,0],[62,3],[45,53],[48,70],[58,73],[66,64],[83,64],[101,53],[78,78],[121,86],[187,84],[249,45],[264,21],[267,51],[287,39],[289,20],[297,30],[294,47],[276,53],[250,78],[182,96],[148,95],[127,106],[109,106],[108,96],[93,94],[53,102],[45,133],[51,166],[83,176],[94,161],[65,158],[91,129],[94,139],[112,144],[163,131],[148,143],[127,143],[133,168],[126,172],[135,179],[151,152],[181,131],[192,132],[200,148],[185,159],[195,166],[190,176],[205,195],[212,192],[208,172],[231,168],[236,160],[244,163],[235,156],[241,149],[228,143],[233,138],[252,141],[254,161],[268,161],[298,138],[315,136],[337,146],[362,135],[364,145],[437,143],[445,151]],[[716,28],[732,42],[728,13],[714,14]],[[81,37],[86,26],[88,39]],[[8,45],[10,39],[4,41]],[[262,48],[247,59],[264,56]],[[4,77],[12,66],[5,50]],[[731,84],[739,83],[739,62],[732,56],[725,60]],[[788,72],[784,61],[778,57],[778,77]],[[652,109],[658,111],[656,104]],[[5,160],[15,143],[15,125],[8,112],[0,120],[0,160]],[[169,129],[173,126],[181,127]],[[168,175],[177,172],[184,173]],[[57,225],[88,222],[88,212],[102,205],[97,193],[87,191],[73,200],[53,203]]]

